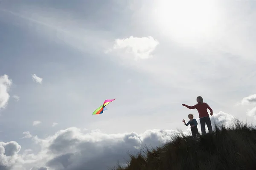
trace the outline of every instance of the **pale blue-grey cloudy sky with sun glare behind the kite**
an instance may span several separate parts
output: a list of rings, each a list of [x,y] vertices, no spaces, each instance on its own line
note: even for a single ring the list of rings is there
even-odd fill
[[[198,112],[256,125],[255,0],[1,0],[0,170],[104,170]],[[105,99],[101,115],[92,115]],[[208,111],[209,112],[209,111]],[[207,127],[206,127],[207,129]]]

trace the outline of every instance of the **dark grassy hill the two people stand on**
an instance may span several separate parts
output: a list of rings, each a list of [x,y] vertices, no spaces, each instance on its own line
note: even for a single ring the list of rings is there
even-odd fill
[[[207,128],[207,127],[206,127]],[[176,135],[157,148],[130,155],[127,167],[111,170],[256,170],[256,128],[236,120],[211,134]]]

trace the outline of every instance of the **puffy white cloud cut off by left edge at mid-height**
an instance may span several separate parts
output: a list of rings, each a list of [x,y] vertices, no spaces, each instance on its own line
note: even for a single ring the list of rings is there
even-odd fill
[[[10,95],[9,88],[12,85],[12,80],[9,79],[8,75],[0,76],[0,109],[5,108],[8,104]]]

